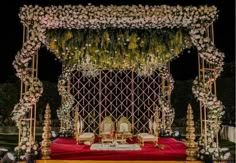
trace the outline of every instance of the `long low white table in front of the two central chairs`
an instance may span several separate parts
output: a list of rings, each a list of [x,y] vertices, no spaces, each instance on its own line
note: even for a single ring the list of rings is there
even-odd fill
[[[106,151],[121,151],[121,150],[128,150],[128,151],[139,151],[141,150],[139,144],[100,144],[95,143],[92,144],[90,150],[106,150]]]

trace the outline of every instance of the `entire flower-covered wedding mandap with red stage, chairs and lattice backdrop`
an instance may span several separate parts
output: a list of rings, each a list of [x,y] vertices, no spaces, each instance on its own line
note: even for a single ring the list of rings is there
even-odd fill
[[[21,7],[23,46],[13,63],[21,90],[12,113],[19,129],[19,158],[33,153],[37,162],[227,159],[218,143],[224,106],[216,96],[216,79],[224,54],[214,45],[217,16],[215,6]],[[43,141],[37,143],[36,109],[43,93],[38,51],[43,46],[62,62],[62,100],[59,137],[51,139],[47,105]],[[201,131],[195,140],[189,104],[183,142],[171,137],[175,110],[170,62],[191,47],[198,51],[192,92],[200,103]]]

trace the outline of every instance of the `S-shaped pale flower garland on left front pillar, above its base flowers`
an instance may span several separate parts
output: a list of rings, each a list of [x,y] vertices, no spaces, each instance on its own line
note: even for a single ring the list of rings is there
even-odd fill
[[[34,26],[35,27],[35,26]],[[38,40],[38,31],[33,27],[30,31],[30,38],[27,40],[20,52],[15,56],[13,66],[16,69],[16,76],[19,77],[24,85],[29,86],[29,89],[24,93],[19,103],[15,105],[12,112],[12,119],[18,124],[19,120],[24,117],[25,113],[37,103],[43,92],[42,83],[37,78],[32,78],[29,74],[28,65],[32,60],[33,55],[37,53],[41,43]]]

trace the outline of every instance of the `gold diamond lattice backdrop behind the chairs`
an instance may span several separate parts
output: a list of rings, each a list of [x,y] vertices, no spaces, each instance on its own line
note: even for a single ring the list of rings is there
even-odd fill
[[[133,134],[148,132],[148,122],[158,107],[163,89],[167,86],[158,71],[140,77],[133,71],[102,71],[90,78],[80,71],[71,74],[69,89],[79,109],[84,132],[99,133],[99,123],[105,116],[117,122],[125,116],[132,124]],[[168,95],[164,99],[168,100]]]

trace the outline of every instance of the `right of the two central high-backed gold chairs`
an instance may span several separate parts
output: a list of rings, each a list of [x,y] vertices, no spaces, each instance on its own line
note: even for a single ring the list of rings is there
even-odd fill
[[[116,124],[116,135],[122,137],[122,139],[132,138],[131,123],[126,117],[121,117]]]

